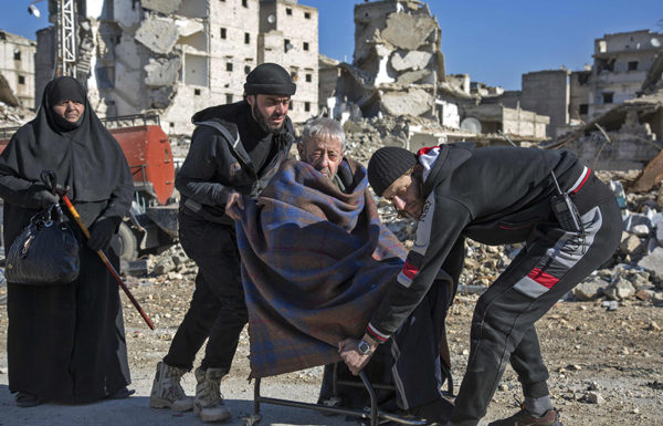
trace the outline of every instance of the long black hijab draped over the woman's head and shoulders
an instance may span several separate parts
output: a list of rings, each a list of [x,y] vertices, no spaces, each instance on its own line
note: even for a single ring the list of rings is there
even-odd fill
[[[53,111],[61,101],[81,102],[85,110],[76,123]],[[108,199],[120,184],[127,160],[113,135],[90,107],[85,87],[75,79],[51,81],[36,117],[21,127],[0,156],[0,172],[39,183],[41,172],[53,170],[57,183],[69,185],[69,198]]]

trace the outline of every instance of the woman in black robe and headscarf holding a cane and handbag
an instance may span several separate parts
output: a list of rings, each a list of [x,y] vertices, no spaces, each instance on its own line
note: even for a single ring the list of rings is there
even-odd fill
[[[59,77],[46,85],[36,117],[21,127],[0,155],[4,243],[57,197],[41,184],[53,170],[90,240],[71,217],[80,245],[78,279],[63,285],[8,288],[9,388],[17,405],[41,401],[76,404],[127,397],[130,383],[118,285],[96,254],[117,268],[117,232],[128,211],[133,178],[127,160],[90,107],[83,85]],[[64,209],[66,211],[66,209]]]

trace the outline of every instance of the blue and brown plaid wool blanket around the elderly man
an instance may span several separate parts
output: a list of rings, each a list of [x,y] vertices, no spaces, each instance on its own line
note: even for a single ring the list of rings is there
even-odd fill
[[[337,343],[359,337],[407,251],[379,220],[366,169],[344,162],[341,193],[312,166],[290,160],[244,200],[236,224],[249,306],[251,375],[340,361]]]

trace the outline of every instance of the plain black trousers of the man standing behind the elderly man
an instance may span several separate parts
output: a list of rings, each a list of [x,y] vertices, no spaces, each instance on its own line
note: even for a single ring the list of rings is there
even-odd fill
[[[164,362],[191,370],[209,336],[201,367],[230,370],[249,321],[234,228],[181,212],[180,243],[198,264],[196,291]]]

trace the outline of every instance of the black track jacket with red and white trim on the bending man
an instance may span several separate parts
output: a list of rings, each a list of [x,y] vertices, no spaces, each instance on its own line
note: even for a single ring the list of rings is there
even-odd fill
[[[422,149],[425,205],[414,247],[403,272],[373,313],[368,331],[386,340],[425,295],[443,268],[456,281],[464,238],[486,245],[524,242],[534,226],[555,221],[550,199],[557,195],[550,172],[580,210],[614,198],[568,150],[449,144]],[[571,189],[578,186],[578,191]]]

